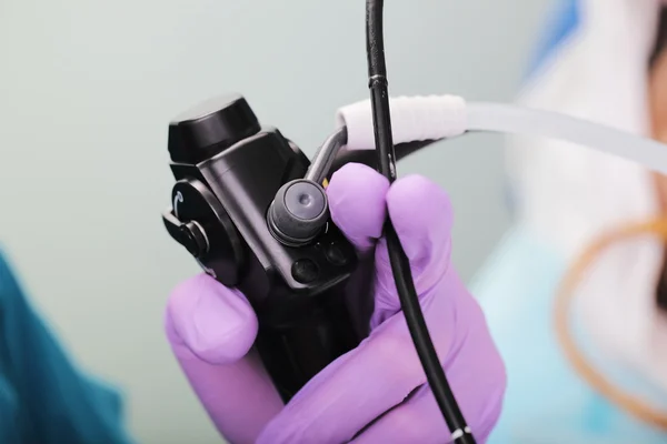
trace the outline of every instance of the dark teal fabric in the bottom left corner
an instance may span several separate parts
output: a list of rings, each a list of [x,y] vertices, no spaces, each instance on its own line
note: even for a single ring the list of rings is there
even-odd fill
[[[119,394],[81,373],[0,254],[0,444],[129,444]]]

